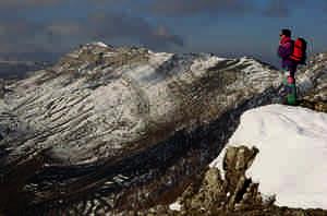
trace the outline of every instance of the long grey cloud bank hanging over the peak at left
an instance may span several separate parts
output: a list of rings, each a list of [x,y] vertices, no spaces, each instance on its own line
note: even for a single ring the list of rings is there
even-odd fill
[[[53,53],[63,53],[93,40],[113,45],[119,40],[124,45],[143,45],[153,49],[183,46],[183,39],[168,27],[125,13],[97,13],[82,21],[55,20],[43,24],[21,19],[0,21],[0,58],[9,53],[39,57],[38,52],[52,58]]]

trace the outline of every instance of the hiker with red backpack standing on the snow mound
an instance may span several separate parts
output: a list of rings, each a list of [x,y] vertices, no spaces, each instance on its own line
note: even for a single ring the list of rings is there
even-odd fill
[[[287,92],[287,104],[296,105],[295,72],[298,64],[305,64],[306,41],[303,38],[298,38],[293,41],[291,35],[290,29],[281,29],[278,56],[281,58],[282,70],[286,70],[288,73],[283,82]]]

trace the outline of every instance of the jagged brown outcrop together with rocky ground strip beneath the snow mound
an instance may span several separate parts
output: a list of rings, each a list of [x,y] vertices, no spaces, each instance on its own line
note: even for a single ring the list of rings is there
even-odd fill
[[[178,199],[181,212],[170,215],[327,215],[323,209],[277,207],[274,197],[264,201],[258,183],[245,177],[245,171],[259,154],[256,148],[228,147],[223,158],[225,179],[218,168],[210,168],[202,183],[190,185]],[[241,165],[241,166],[239,166]]]

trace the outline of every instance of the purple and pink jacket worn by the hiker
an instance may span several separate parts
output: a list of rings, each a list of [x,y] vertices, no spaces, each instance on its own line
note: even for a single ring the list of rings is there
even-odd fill
[[[283,37],[278,47],[278,56],[281,58],[281,68],[289,70],[291,73],[295,73],[298,64],[290,59],[292,52],[292,39],[290,37]]]

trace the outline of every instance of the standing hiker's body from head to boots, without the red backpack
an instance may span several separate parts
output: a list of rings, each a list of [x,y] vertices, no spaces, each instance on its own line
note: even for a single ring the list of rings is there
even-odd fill
[[[281,29],[280,43],[278,47],[278,56],[281,58],[281,68],[288,73],[288,77],[284,81],[287,92],[287,104],[296,104],[296,87],[295,87],[295,72],[298,68],[298,61],[294,60],[294,41],[291,39],[290,29]]]

